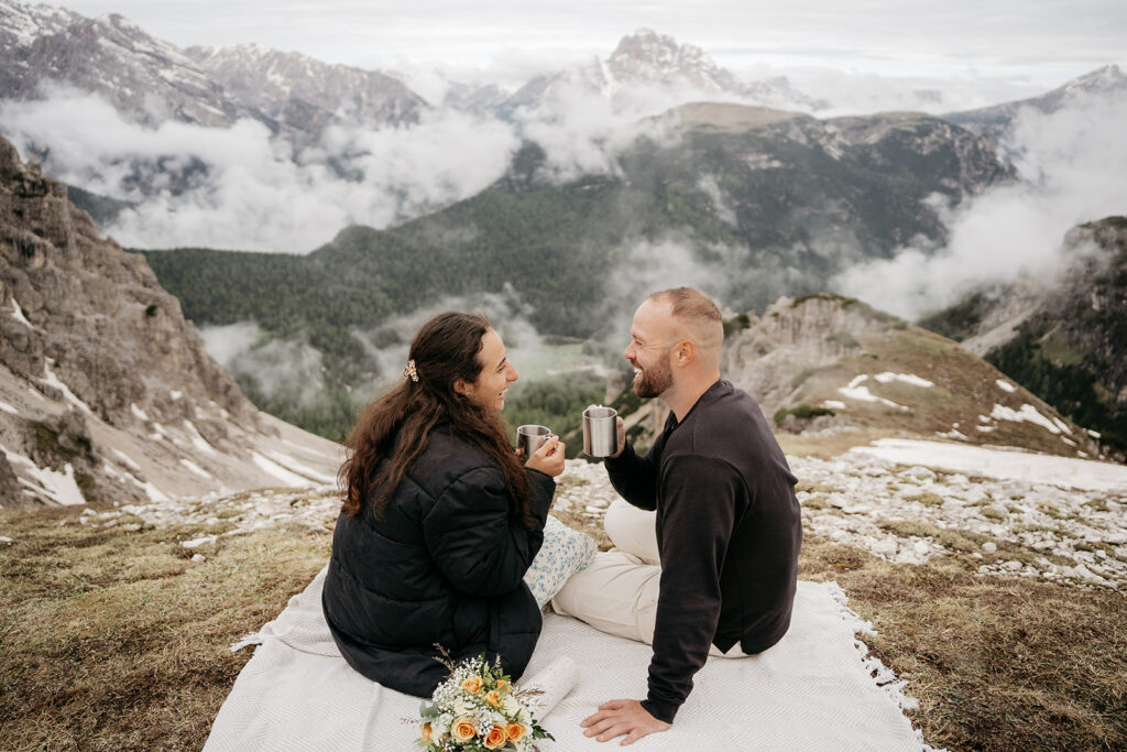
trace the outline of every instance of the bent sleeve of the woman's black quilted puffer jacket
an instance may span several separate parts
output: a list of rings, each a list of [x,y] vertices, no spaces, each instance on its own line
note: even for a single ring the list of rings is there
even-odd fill
[[[536,525],[527,530],[508,513],[505,477],[481,467],[455,479],[423,520],[423,536],[443,576],[460,591],[492,596],[523,580],[544,540],[556,483],[529,471],[530,505]]]

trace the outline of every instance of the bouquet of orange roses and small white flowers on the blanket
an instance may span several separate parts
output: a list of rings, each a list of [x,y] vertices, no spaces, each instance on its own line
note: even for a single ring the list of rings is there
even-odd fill
[[[429,702],[419,708],[423,723],[418,744],[427,752],[531,752],[532,740],[551,738],[536,723],[526,700],[540,690],[520,690],[500,667],[486,662],[485,653],[461,664],[443,661],[450,679],[438,684]]]

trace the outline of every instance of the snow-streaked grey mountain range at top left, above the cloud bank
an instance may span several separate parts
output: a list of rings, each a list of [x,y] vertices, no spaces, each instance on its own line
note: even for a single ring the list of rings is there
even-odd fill
[[[16,0],[0,0],[0,98],[37,99],[45,86],[68,86],[149,125],[224,127],[246,117],[302,142],[330,124],[412,123],[426,106],[375,71],[256,45],[180,50],[118,15],[86,18]]]

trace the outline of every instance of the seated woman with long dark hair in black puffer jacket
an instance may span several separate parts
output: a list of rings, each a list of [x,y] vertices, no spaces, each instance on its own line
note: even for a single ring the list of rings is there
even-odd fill
[[[403,382],[347,440],[345,501],[321,604],[348,664],[429,697],[454,660],[499,655],[514,679],[540,636],[522,581],[543,540],[564,443],[522,465],[499,412],[516,369],[474,313],[442,313],[411,343]]]

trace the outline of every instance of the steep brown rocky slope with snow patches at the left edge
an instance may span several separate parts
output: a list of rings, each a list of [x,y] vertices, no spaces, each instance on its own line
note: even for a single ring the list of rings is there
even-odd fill
[[[259,413],[144,258],[0,140],[0,505],[331,481],[337,446]]]

